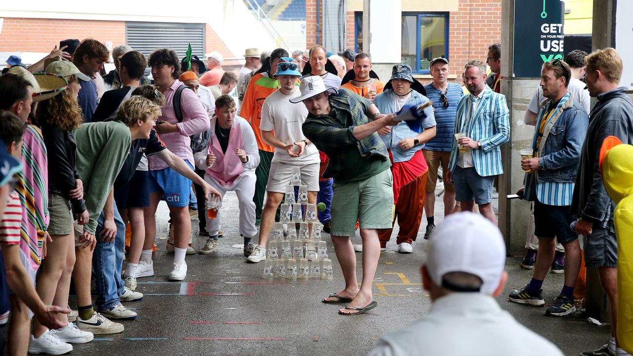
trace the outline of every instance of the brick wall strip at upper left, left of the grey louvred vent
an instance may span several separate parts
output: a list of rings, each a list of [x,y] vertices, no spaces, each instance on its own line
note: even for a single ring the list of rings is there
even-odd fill
[[[0,33],[0,51],[50,52],[64,39],[91,37],[112,42],[112,47],[125,43],[125,22],[62,20],[49,18],[4,18]]]

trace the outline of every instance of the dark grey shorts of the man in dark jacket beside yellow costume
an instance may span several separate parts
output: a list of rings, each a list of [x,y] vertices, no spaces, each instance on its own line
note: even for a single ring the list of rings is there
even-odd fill
[[[587,267],[618,267],[618,240],[613,220],[606,224],[594,223],[591,235],[585,236],[584,249]]]

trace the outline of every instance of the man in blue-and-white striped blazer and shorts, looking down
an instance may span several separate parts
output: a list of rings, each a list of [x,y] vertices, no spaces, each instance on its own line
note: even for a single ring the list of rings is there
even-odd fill
[[[449,182],[455,186],[455,200],[461,210],[479,212],[496,224],[492,210],[494,177],[503,174],[501,144],[510,139],[510,111],[503,94],[486,86],[486,65],[470,61],[464,79],[470,95],[457,104]]]

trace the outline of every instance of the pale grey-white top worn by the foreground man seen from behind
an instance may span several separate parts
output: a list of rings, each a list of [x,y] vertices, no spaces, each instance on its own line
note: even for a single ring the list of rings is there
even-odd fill
[[[394,333],[380,336],[369,356],[560,356],[542,336],[517,322],[491,296],[451,293],[438,298],[429,314]]]

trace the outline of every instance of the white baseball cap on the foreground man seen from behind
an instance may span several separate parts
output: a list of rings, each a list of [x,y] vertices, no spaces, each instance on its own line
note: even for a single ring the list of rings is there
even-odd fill
[[[494,293],[505,267],[506,246],[490,220],[471,212],[451,214],[429,241],[424,265],[436,286],[452,289],[442,281],[444,274],[466,272],[483,281],[479,293]]]

